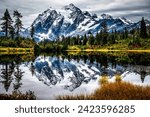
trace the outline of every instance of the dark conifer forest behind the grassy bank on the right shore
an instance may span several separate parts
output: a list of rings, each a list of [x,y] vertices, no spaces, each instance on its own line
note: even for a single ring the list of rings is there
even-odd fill
[[[91,32],[85,34],[83,36],[76,37],[64,37],[58,39],[57,42],[63,43],[64,45],[95,45],[95,46],[103,46],[106,44],[115,44],[118,40],[123,39],[133,39],[133,43],[138,43],[140,40],[146,40],[150,38],[150,26],[147,27],[144,17],[140,21],[140,28],[128,30],[126,27],[123,32],[116,31],[115,29],[112,32],[108,32],[108,27],[106,21],[102,24],[102,30],[97,32],[96,35],[93,35]]]

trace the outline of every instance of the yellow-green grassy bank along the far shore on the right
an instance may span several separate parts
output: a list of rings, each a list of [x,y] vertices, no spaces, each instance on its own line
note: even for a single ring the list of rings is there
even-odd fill
[[[140,40],[140,45],[130,45],[133,40],[119,40],[115,44],[100,45],[73,45],[68,46],[67,51],[85,52],[150,52],[150,39]]]

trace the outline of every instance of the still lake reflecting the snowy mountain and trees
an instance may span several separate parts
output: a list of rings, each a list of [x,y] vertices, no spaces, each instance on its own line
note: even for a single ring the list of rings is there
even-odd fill
[[[34,91],[37,99],[90,94],[102,75],[113,82],[150,85],[150,53],[50,53],[0,55],[0,93]]]

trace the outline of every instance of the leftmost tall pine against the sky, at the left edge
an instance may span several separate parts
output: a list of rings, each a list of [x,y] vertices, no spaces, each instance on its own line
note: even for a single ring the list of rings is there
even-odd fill
[[[6,11],[4,13],[4,16],[1,18],[1,20],[3,20],[3,22],[1,23],[2,31],[5,32],[5,37],[8,37],[8,35],[11,31],[11,28],[12,28],[12,23],[13,23],[13,21],[10,17],[8,9],[6,9]]]

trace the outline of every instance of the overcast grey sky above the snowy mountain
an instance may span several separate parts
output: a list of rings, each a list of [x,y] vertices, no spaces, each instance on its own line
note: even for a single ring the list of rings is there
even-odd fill
[[[49,7],[60,9],[70,3],[98,15],[108,13],[115,18],[126,17],[135,22],[143,16],[150,20],[150,0],[0,0],[0,18],[6,8],[11,15],[13,10],[18,10],[23,15],[24,27],[28,27]]]

